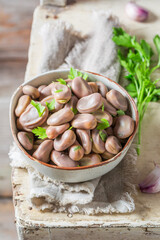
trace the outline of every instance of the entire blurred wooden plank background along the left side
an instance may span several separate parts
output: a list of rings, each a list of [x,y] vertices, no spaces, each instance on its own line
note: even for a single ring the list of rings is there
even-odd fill
[[[0,0],[0,239],[16,240],[8,151],[9,101],[23,82],[32,16],[39,0]]]

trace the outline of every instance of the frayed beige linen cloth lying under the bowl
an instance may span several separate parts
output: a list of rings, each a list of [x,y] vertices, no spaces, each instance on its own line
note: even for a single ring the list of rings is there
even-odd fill
[[[75,67],[103,74],[118,82],[120,65],[112,28],[118,19],[111,13],[93,13],[92,32],[82,37],[72,26],[62,21],[42,26],[43,40],[40,73],[53,69]],[[135,162],[137,154],[132,144],[122,162],[111,172],[84,183],[62,183],[43,176],[25,161],[15,144],[9,157],[12,167],[28,170],[32,207],[53,212],[99,214],[126,213],[135,209]]]

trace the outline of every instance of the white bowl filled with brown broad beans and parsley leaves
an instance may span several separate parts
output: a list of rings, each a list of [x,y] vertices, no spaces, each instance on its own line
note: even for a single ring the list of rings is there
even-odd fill
[[[33,168],[52,179],[83,182],[120,163],[135,137],[138,112],[118,83],[71,68],[19,86],[11,99],[10,126]]]

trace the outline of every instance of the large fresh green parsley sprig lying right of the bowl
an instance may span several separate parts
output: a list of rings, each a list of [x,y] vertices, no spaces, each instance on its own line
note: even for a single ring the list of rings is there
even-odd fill
[[[126,90],[137,99],[139,112],[137,153],[140,154],[143,116],[149,102],[158,101],[160,96],[160,88],[156,85],[160,79],[152,79],[151,76],[160,67],[160,36],[156,35],[153,39],[158,53],[158,61],[155,66],[152,61],[154,52],[145,40],[138,42],[135,36],[129,35],[122,28],[113,28],[112,40],[121,47],[118,49],[118,58],[120,64],[128,72],[126,78],[129,84],[126,86]]]

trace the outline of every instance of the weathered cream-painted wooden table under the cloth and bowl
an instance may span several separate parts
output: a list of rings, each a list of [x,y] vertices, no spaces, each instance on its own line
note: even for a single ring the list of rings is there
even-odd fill
[[[32,25],[29,61],[25,79],[31,79],[38,72],[42,48],[39,30],[42,24],[57,21],[58,18],[72,23],[75,29],[85,34],[92,27],[89,21],[92,10],[111,9],[119,16],[120,21],[127,25],[131,33],[135,33],[138,37],[143,37],[151,42],[153,36],[159,30],[159,1],[140,1],[154,13],[154,15],[150,15],[146,23],[132,22],[125,16],[124,6],[126,2],[125,0],[88,0],[78,1],[76,4],[65,8],[37,7]],[[155,104],[152,111],[156,111],[157,107],[159,105]],[[142,129],[141,156],[137,162],[140,171],[138,181],[144,178],[153,168],[153,161],[159,162],[160,149],[156,150],[156,154],[155,149],[157,149],[157,143],[159,142],[160,128],[155,118],[150,119],[150,121],[155,123],[155,127],[157,124],[156,134],[152,129],[152,124],[148,125],[148,119],[144,119],[143,129],[147,127],[149,131],[146,133]],[[150,139],[152,139],[152,149],[150,148]],[[151,159],[151,156],[153,156],[153,159]],[[13,196],[19,239],[160,239],[160,194],[149,195],[138,192],[135,197],[136,211],[131,214],[100,214],[98,216],[75,214],[71,217],[67,216],[67,214],[40,212],[31,209],[27,202],[29,194],[28,181],[26,170],[13,169]]]

